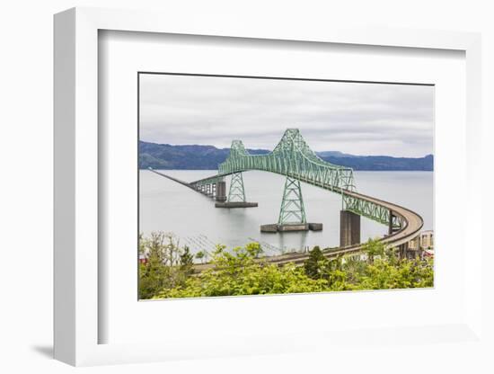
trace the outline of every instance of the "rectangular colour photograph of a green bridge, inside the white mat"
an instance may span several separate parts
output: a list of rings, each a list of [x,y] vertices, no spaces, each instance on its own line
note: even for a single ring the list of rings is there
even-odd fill
[[[434,287],[434,85],[137,82],[139,299]]]

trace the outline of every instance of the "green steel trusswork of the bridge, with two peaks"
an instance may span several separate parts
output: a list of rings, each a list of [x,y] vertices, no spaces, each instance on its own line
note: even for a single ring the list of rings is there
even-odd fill
[[[192,182],[190,185],[198,189],[204,184],[216,184],[219,181],[223,181],[226,175],[240,174],[249,170],[261,170],[287,176],[287,183],[290,181],[290,194],[297,191],[300,196],[298,208],[300,220],[298,220],[298,223],[302,222],[302,218],[305,219],[299,183],[304,182],[325,190],[340,193],[342,196],[342,209],[348,209],[360,216],[370,218],[388,226],[391,219],[391,227],[393,229],[397,229],[403,224],[401,218],[393,216],[393,213],[389,209],[372,201],[348,195],[347,193],[349,191],[356,191],[353,169],[333,165],[322,160],[307,145],[298,129],[287,129],[278,142],[278,145],[272,152],[266,155],[251,155],[243,147],[242,140],[234,140],[230,148],[230,155],[224,163],[218,166],[218,174]],[[294,181],[297,182],[295,183]],[[298,184],[298,188],[296,188],[296,184]],[[291,190],[292,187],[293,190]],[[289,214],[291,217],[285,217],[285,213],[291,213],[290,207],[284,209],[285,204],[290,203],[290,199],[286,199],[286,195],[287,187],[280,209],[280,222],[287,222],[287,219],[294,218],[292,214]],[[293,208],[293,204],[295,202],[289,205]]]

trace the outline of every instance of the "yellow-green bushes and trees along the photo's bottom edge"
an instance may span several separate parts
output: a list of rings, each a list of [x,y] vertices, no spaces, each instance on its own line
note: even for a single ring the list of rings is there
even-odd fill
[[[218,245],[204,272],[193,273],[189,248],[173,236],[154,233],[141,239],[140,298],[194,298],[234,295],[267,295],[358,289],[407,289],[432,287],[432,260],[400,259],[384,245],[369,240],[362,255],[328,260],[314,247],[304,266],[278,266],[262,258],[259,244],[226,251]],[[199,260],[203,254],[199,254]]]

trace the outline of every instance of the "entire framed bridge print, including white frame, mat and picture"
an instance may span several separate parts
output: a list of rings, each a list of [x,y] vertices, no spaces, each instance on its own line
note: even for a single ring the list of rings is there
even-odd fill
[[[482,344],[479,36],[222,20],[56,15],[56,358]]]

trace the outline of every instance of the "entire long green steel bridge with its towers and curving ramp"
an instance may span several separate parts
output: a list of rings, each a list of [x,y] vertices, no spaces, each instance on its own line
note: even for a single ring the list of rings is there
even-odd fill
[[[278,228],[308,225],[301,182],[339,194],[342,205],[340,251],[345,253],[358,252],[360,249],[360,217],[372,219],[388,227],[388,235],[381,239],[388,246],[407,245],[419,235],[423,225],[422,218],[410,209],[358,193],[353,170],[322,160],[307,145],[298,129],[287,129],[273,151],[265,155],[251,155],[243,147],[242,140],[234,140],[230,155],[218,166],[218,173],[198,181],[187,183],[153,171],[214,198],[217,201],[216,207],[240,208],[257,206],[257,203],[247,202],[245,197],[243,172],[251,170],[286,177],[276,224]],[[228,193],[225,191],[227,176],[231,178]],[[339,254],[339,251],[331,253]],[[275,257],[282,261],[283,256]],[[293,256],[288,257],[293,260]]]

